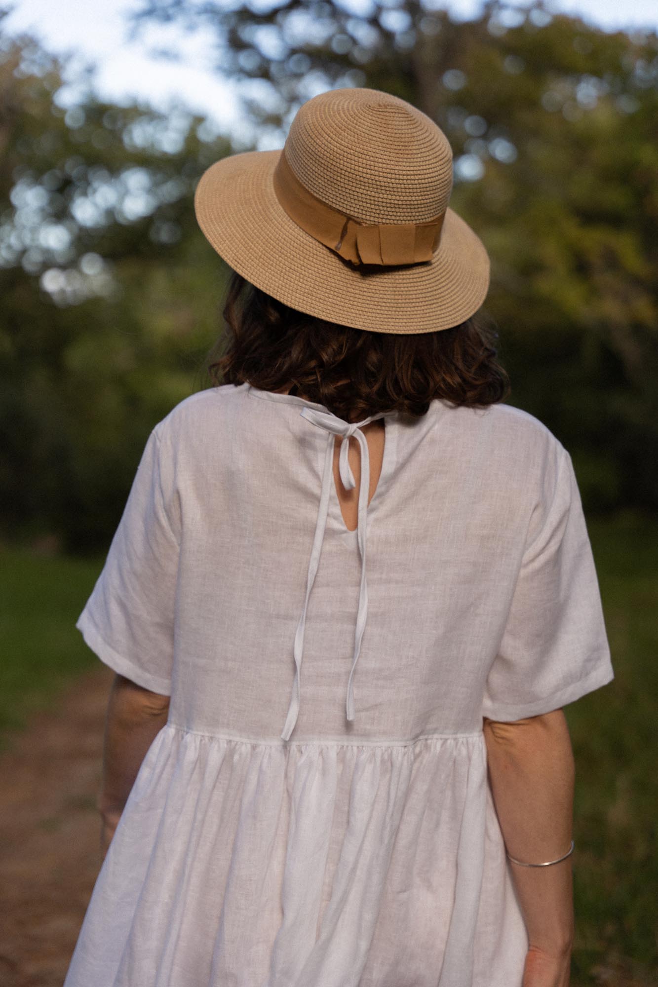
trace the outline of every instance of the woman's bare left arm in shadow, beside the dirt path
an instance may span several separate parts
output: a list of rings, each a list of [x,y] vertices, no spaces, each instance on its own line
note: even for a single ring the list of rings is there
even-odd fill
[[[97,807],[103,820],[105,857],[141,762],[167,721],[169,697],[144,689],[116,674],[105,721],[103,781]]]

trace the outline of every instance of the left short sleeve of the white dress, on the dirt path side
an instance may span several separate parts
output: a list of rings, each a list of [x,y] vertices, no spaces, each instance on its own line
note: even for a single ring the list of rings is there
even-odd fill
[[[169,696],[180,517],[159,427],[148,437],[105,566],[75,627],[120,675]]]

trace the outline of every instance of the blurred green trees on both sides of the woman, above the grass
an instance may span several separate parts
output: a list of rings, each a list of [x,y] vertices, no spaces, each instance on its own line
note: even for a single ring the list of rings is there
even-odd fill
[[[567,446],[588,510],[655,509],[656,35],[540,2],[491,0],[462,23],[432,6],[153,0],[135,24],[214,30],[246,111],[281,143],[328,86],[385,89],[436,119],[451,205],[491,257],[511,403]],[[0,85],[0,533],[101,550],[150,428],[210,383],[227,271],[193,191],[233,148],[183,108],[111,106],[91,87],[64,108],[60,62],[32,38],[0,34]]]

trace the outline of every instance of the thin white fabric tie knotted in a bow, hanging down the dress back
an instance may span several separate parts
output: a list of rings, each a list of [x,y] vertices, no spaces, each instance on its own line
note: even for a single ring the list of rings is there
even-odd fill
[[[324,456],[324,470],[322,474],[322,491],[320,493],[320,503],[315,524],[315,535],[311,549],[310,561],[308,563],[308,573],[306,577],[306,599],[299,618],[297,631],[294,636],[294,681],[292,683],[292,695],[288,707],[288,717],[284,731],[281,734],[284,740],[288,740],[290,733],[294,729],[299,712],[299,675],[301,669],[301,657],[303,652],[304,629],[306,626],[306,611],[308,609],[308,599],[315,581],[315,573],[320,562],[322,552],[322,542],[327,524],[327,514],[329,511],[329,496],[331,484],[333,483],[333,458],[334,458],[334,436],[342,435],[341,451],[339,455],[340,477],[346,490],[353,490],[357,484],[354,474],[350,468],[348,459],[349,439],[354,435],[361,447],[361,482],[359,486],[359,514],[357,522],[357,541],[361,554],[361,586],[359,589],[359,609],[357,611],[357,625],[355,630],[354,655],[352,658],[352,670],[348,682],[346,713],[349,721],[354,720],[354,687],[353,678],[357,660],[361,651],[361,640],[366,629],[368,620],[368,586],[366,583],[366,531],[368,523],[368,494],[370,491],[370,454],[368,451],[368,440],[361,430],[363,425],[374,421],[376,418],[383,418],[389,414],[378,412],[363,421],[349,422],[332,415],[331,412],[320,412],[313,408],[303,408],[299,414],[302,418],[307,418],[312,424],[327,431],[327,446]]]

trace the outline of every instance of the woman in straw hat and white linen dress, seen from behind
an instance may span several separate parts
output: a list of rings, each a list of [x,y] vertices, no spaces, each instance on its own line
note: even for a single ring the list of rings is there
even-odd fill
[[[613,669],[569,453],[501,404],[451,190],[440,128],[370,89],[199,183],[230,345],[76,625],[117,681],[65,987],[568,984],[561,707]]]

